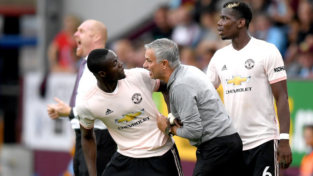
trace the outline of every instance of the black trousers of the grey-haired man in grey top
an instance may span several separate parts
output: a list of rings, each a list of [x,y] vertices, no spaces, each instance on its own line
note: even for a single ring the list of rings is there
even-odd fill
[[[197,148],[193,176],[241,175],[243,168],[242,140],[239,134],[215,137]]]

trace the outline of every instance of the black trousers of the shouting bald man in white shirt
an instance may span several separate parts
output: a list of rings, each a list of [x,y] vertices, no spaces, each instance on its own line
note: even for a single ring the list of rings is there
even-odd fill
[[[73,159],[73,167],[75,176],[89,176],[87,165],[81,147],[81,132],[80,129],[75,129],[76,144],[75,154]],[[109,131],[94,129],[97,142],[97,175],[101,175],[110,162],[113,154],[117,150],[117,145],[111,137]]]

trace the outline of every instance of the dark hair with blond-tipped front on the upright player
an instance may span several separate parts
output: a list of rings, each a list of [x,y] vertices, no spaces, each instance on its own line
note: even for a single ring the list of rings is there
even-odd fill
[[[223,5],[223,8],[231,8],[238,15],[239,18],[246,20],[247,28],[252,20],[253,12],[250,6],[244,1],[230,1]]]

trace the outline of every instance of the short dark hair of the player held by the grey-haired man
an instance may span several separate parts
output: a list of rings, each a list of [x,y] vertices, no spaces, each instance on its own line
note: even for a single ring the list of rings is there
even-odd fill
[[[100,71],[104,71],[103,64],[108,53],[109,50],[105,48],[94,49],[89,53],[87,58],[87,67],[91,73],[98,74]]]

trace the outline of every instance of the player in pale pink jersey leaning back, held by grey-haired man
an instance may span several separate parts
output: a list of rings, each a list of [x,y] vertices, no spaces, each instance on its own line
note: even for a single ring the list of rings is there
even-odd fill
[[[157,127],[160,116],[154,91],[167,91],[164,82],[150,79],[147,70],[124,70],[116,54],[95,49],[87,60],[95,84],[77,106],[84,151],[90,176],[96,175],[95,119],[107,126],[118,146],[102,175],[183,175],[172,137]]]

